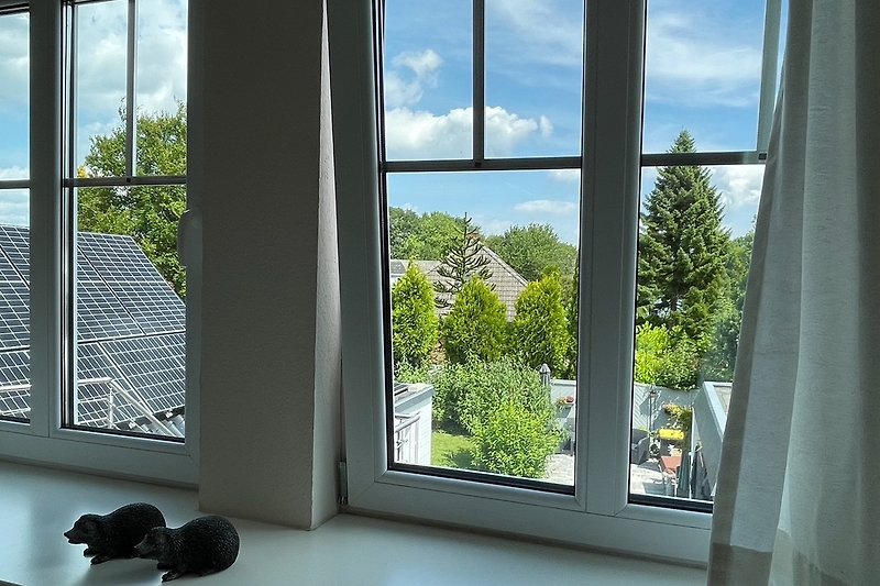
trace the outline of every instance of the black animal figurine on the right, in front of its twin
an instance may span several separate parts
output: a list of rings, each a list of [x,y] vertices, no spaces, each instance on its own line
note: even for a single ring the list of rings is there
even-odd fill
[[[169,570],[162,575],[168,582],[231,566],[239,555],[239,533],[223,517],[199,517],[177,529],[153,528],[134,549],[139,557],[158,561],[158,570]]]

